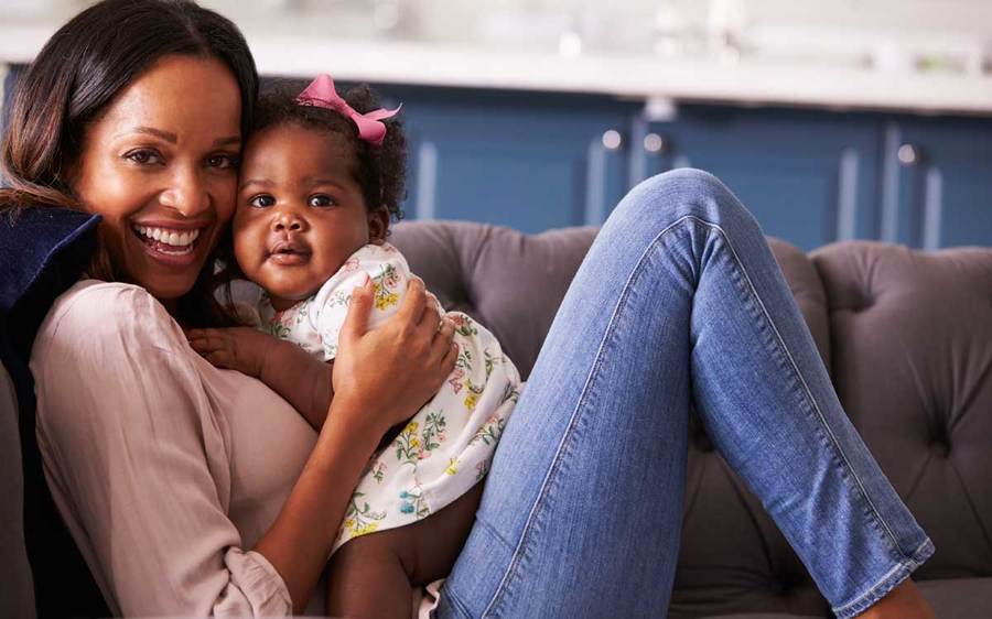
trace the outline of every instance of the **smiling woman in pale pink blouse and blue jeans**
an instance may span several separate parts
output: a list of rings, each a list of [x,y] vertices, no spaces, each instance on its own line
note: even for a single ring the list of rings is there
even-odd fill
[[[39,211],[101,217],[90,279],[47,311],[31,370],[48,487],[117,613],[319,609],[362,465],[453,365],[422,286],[370,333],[358,293],[314,435],[188,349],[181,327],[224,324],[211,280],[256,90],[223,18],[109,0],[52,37],[12,110],[2,200],[32,208],[6,238]],[[907,577],[932,545],[847,421],[757,225],[696,171],[641,184],[600,232],[438,615],[664,616],[690,400],[838,616],[931,616]]]

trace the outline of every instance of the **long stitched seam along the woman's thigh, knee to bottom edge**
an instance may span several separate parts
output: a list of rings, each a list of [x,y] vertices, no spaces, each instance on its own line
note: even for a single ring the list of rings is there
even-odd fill
[[[530,513],[527,514],[527,520],[524,523],[524,531],[520,534],[520,539],[514,547],[513,556],[510,557],[510,563],[507,566],[506,571],[503,573],[503,578],[500,578],[499,584],[496,586],[496,591],[493,594],[493,598],[489,600],[489,604],[486,605],[486,608],[483,610],[482,616],[486,617],[493,610],[493,607],[496,605],[496,601],[504,595],[505,590],[509,586],[510,575],[516,571],[518,564],[521,561],[524,551],[524,544],[527,541],[527,537],[532,530],[532,524],[535,519],[537,518],[538,509],[544,503],[547,499],[547,488],[550,484],[551,477],[559,470],[561,467],[562,455],[564,453],[565,445],[569,439],[572,437],[579,411],[582,409],[583,404],[586,402],[586,397],[590,392],[590,385],[592,384],[594,378],[599,374],[600,368],[602,367],[602,354],[603,349],[606,346],[606,343],[610,340],[613,335],[617,315],[621,310],[626,304],[627,297],[629,296],[629,292],[632,289],[632,282],[634,279],[644,269],[644,265],[647,261],[648,256],[655,250],[658,242],[661,240],[665,235],[667,235],[671,229],[673,229],[680,222],[693,218],[692,216],[683,216],[679,219],[672,221],[668,226],[666,226],[661,231],[659,231],[654,239],[648,243],[645,248],[644,252],[641,252],[640,257],[637,259],[634,268],[630,270],[630,274],[627,276],[627,281],[624,282],[624,287],[621,291],[619,298],[617,300],[616,306],[613,308],[613,314],[610,316],[610,323],[606,325],[606,330],[603,333],[603,338],[600,340],[600,345],[596,348],[596,358],[593,363],[592,369],[589,372],[589,376],[585,378],[585,383],[582,385],[582,393],[579,395],[579,400],[575,402],[575,408],[572,410],[572,414],[569,417],[569,424],[565,428],[564,434],[561,437],[561,441],[558,444],[558,447],[554,452],[554,458],[551,461],[551,466],[548,467],[548,473],[544,474],[544,478],[541,480],[540,490],[538,491],[538,498],[535,500],[533,506],[530,508]]]

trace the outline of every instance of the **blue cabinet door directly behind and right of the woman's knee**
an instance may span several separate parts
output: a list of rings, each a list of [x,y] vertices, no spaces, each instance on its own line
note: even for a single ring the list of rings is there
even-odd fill
[[[805,250],[877,234],[880,129],[870,115],[682,106],[632,133],[633,181],[675,167],[712,172],[765,234]]]

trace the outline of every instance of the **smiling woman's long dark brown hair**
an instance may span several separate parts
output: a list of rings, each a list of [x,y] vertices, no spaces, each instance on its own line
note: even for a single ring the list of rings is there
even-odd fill
[[[84,133],[134,78],[170,55],[217,58],[241,93],[241,133],[251,127],[258,73],[248,44],[228,19],[190,0],[104,0],[63,25],[45,43],[13,97],[0,145],[0,210],[80,209],[65,174]],[[103,243],[100,243],[103,245]],[[105,248],[89,274],[117,280]],[[213,297],[213,260],[180,300],[191,323],[226,322]]]

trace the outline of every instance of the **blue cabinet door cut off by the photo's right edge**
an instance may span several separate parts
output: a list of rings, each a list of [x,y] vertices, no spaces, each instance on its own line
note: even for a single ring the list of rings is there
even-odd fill
[[[883,240],[992,245],[992,120],[891,121],[883,178]]]

